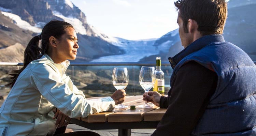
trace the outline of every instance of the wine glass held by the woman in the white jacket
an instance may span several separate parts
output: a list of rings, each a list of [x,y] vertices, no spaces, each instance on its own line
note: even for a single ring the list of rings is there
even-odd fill
[[[126,67],[114,67],[112,74],[112,82],[114,87],[118,89],[125,89],[129,82],[128,71]],[[124,109],[128,106],[123,105],[122,103],[115,106],[117,109]]]

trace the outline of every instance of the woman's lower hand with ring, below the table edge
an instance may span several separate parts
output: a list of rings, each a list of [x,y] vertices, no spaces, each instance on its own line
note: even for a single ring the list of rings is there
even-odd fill
[[[56,119],[55,127],[62,127],[62,126],[67,126],[71,120],[69,116],[63,114],[59,109],[57,109],[53,119]]]

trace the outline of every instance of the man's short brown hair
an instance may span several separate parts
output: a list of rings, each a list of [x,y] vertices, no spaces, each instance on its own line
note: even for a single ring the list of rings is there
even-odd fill
[[[187,33],[188,19],[198,23],[201,35],[222,34],[227,19],[225,0],[178,0],[174,2]]]

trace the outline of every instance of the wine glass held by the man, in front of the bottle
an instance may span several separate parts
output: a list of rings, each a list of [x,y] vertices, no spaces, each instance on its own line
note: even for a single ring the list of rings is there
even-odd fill
[[[146,67],[146,66],[141,67],[139,81],[140,81],[141,87],[145,90],[146,94],[154,86],[155,80],[156,80],[155,77],[156,77],[155,67]],[[152,106],[147,104],[146,99],[145,99],[145,103],[143,104],[143,107],[152,108]]]

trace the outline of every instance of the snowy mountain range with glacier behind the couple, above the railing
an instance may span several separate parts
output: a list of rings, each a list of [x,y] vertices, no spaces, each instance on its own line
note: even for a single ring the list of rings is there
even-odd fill
[[[256,60],[255,7],[256,0],[230,0],[224,30],[225,40],[241,47],[253,60]],[[29,39],[52,19],[67,21],[76,29],[80,42],[76,62],[155,61],[156,56],[168,61],[168,57],[183,49],[178,29],[159,39],[139,41],[105,35],[88,24],[85,14],[70,0],[0,0],[0,11],[0,54],[8,56],[0,57],[0,61],[22,62]],[[6,53],[10,49],[17,50],[15,57]]]

